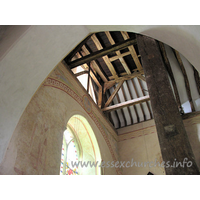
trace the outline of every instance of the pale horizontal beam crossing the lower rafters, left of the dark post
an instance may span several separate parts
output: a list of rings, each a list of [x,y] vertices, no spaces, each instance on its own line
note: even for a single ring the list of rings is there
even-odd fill
[[[110,112],[110,111],[113,111],[113,110],[121,109],[121,108],[124,108],[124,107],[127,107],[127,106],[132,106],[132,105],[139,104],[139,103],[149,101],[149,100],[150,100],[150,97],[149,97],[149,95],[147,95],[147,96],[144,96],[144,97],[132,99],[132,100],[129,100],[129,101],[126,101],[126,102],[123,102],[123,103],[119,103],[119,104],[115,104],[113,106],[103,108],[102,111]]]

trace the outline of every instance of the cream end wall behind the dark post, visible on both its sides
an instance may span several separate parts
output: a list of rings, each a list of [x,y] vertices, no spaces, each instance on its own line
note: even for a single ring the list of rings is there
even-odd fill
[[[200,115],[184,119],[183,123],[197,166],[200,168]],[[117,131],[120,160],[132,163],[132,167],[129,164],[128,167],[123,168],[123,175],[146,175],[148,172],[155,175],[165,174],[165,169],[161,166],[163,159],[154,120]],[[145,166],[145,162],[149,162],[149,164]]]

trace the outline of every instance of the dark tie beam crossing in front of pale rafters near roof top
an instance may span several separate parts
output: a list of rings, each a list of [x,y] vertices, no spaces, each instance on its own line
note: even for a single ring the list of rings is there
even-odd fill
[[[95,60],[97,58],[101,58],[105,55],[108,55],[109,53],[115,52],[117,50],[125,49],[127,46],[130,46],[130,45],[133,45],[133,44],[136,44],[135,39],[125,40],[125,41],[119,42],[115,45],[112,45],[110,47],[106,47],[106,48],[99,50],[97,52],[91,53],[90,55],[84,56],[81,59],[77,59],[77,60],[74,60],[72,62],[68,61],[67,64],[72,69],[72,68],[77,67],[79,65],[82,65],[86,62],[90,62],[90,61]]]

